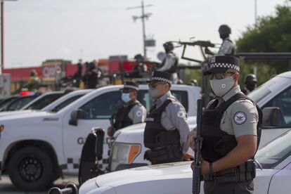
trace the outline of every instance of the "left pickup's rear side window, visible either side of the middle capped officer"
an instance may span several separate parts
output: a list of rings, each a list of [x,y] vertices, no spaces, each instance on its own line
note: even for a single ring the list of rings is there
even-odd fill
[[[175,96],[178,101],[180,101],[185,108],[186,112],[188,112],[188,93],[187,91],[180,90],[172,90],[172,95]],[[148,94],[148,90],[140,90],[138,91],[138,101],[140,101],[146,108],[146,110],[150,110],[153,105],[153,101]]]

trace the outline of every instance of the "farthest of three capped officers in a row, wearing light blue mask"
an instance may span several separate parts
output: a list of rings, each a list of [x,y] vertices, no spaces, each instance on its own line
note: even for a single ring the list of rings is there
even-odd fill
[[[124,105],[112,115],[113,126],[108,128],[108,136],[113,136],[114,132],[131,124],[145,122],[146,109],[136,100],[138,96],[138,86],[134,82],[125,82],[122,91],[122,101]]]

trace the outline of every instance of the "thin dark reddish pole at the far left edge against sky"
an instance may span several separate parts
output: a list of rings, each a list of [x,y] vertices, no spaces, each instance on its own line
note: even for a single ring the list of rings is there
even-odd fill
[[[0,55],[1,55],[1,60],[0,60],[0,75],[2,74],[3,70],[4,70],[4,1],[17,1],[17,0],[1,0],[1,8],[0,8],[0,11],[1,11],[1,19],[0,19],[0,22],[1,22],[1,30],[0,30],[0,33],[1,33],[1,52],[0,52]]]

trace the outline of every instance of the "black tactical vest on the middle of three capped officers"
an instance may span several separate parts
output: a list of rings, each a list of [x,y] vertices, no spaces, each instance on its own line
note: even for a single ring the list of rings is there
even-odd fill
[[[144,158],[152,164],[179,162],[182,160],[180,134],[178,129],[167,131],[161,124],[162,112],[172,100],[165,101],[160,108],[150,109],[145,120],[143,142],[150,150],[145,151]]]

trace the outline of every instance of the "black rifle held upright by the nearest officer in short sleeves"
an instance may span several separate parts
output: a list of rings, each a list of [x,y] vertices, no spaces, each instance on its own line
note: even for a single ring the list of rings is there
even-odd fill
[[[201,176],[201,171],[200,171],[200,160],[201,160],[201,155],[200,155],[200,148],[202,144],[202,137],[201,137],[201,115],[202,115],[202,100],[198,99],[197,100],[197,134],[196,137],[194,138],[195,141],[195,157],[194,157],[194,162],[192,165],[194,165],[193,169],[193,183],[192,183],[192,193],[193,194],[199,194],[200,193],[200,176]]]

